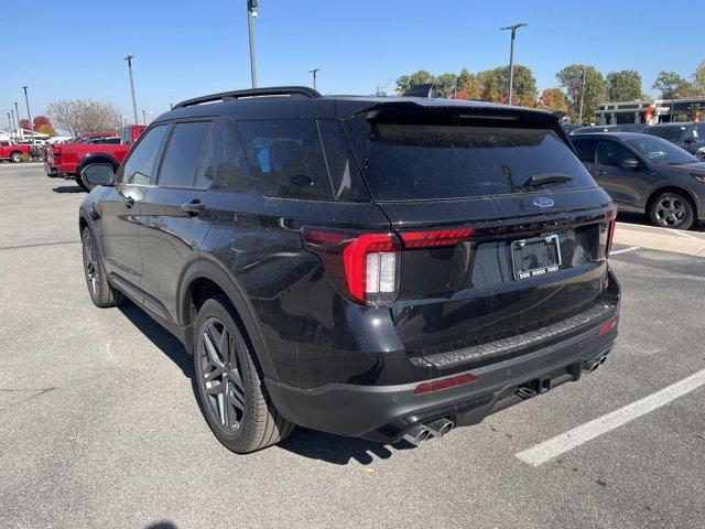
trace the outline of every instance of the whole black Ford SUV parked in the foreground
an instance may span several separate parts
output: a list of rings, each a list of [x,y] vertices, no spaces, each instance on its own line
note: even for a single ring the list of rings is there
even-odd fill
[[[577,380],[617,335],[615,207],[547,112],[217,94],[85,177],[94,303],[184,343],[236,452],[293,424],[417,444]]]

